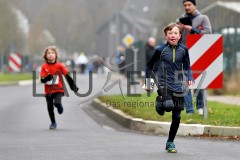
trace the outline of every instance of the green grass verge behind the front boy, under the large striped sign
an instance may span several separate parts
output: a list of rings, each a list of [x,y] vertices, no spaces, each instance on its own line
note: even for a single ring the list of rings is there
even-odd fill
[[[141,97],[127,97],[121,95],[101,96],[99,99],[107,106],[120,109],[128,115],[144,120],[171,121],[171,112],[166,112],[164,116],[159,116],[155,111],[155,97],[142,95]],[[181,123],[187,124],[206,124],[217,126],[240,127],[240,106],[208,101],[208,118],[203,119],[197,113],[187,115],[185,110],[182,112]]]

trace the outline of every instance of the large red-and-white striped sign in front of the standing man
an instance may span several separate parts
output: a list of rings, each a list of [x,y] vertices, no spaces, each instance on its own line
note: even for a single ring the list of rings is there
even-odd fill
[[[222,88],[223,38],[220,34],[187,36],[187,47],[195,85],[190,88]]]

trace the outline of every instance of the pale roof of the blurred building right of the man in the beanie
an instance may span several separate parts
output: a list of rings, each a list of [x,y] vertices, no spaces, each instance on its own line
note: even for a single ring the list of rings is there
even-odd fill
[[[201,13],[205,13],[209,10],[211,10],[212,8],[215,8],[217,6],[232,10],[234,12],[240,13],[240,2],[222,2],[222,1],[217,1],[209,6],[207,6],[206,8],[201,10]]]

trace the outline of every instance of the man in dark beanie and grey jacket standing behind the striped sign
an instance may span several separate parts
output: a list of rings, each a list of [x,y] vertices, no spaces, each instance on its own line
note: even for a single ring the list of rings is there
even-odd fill
[[[179,25],[184,29],[181,43],[186,44],[186,36],[188,34],[211,34],[212,28],[208,16],[201,14],[196,8],[196,0],[183,0],[185,14],[183,17],[188,17],[191,20],[191,25],[183,24],[179,21]],[[199,115],[203,115],[204,106],[204,90],[200,89],[196,98],[197,110]],[[189,90],[184,97],[187,114],[194,113],[192,94]]]

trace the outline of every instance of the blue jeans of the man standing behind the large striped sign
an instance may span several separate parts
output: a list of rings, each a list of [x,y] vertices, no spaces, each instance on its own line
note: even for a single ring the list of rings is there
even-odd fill
[[[200,90],[195,90],[195,92],[196,91],[199,91],[197,98],[196,98],[196,107],[197,107],[197,109],[203,108],[203,106],[204,106],[204,100],[203,100],[204,90],[200,89]],[[187,95],[184,97],[184,102],[185,102],[185,107],[186,107],[186,113],[194,113],[191,90],[189,90]]]

